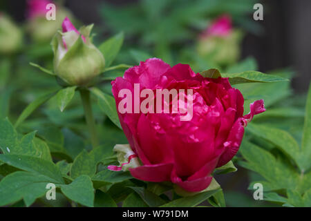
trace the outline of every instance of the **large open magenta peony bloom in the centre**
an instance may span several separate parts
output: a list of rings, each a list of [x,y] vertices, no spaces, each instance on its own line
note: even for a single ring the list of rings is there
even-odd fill
[[[202,77],[187,64],[171,68],[153,58],[129,68],[124,77],[112,82],[117,107],[122,100],[119,91],[127,88],[134,94],[134,84],[140,84],[140,90],[193,90],[190,121],[180,121],[179,113],[118,111],[129,144],[143,164],[129,169],[131,175],[149,182],[170,181],[186,191],[202,191],[209,186],[214,169],[236,155],[247,122],[265,111],[263,100],[259,100],[243,117],[243,95],[227,78]]]

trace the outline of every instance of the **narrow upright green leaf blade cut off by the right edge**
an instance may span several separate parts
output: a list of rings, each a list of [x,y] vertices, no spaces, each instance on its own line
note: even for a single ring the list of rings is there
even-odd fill
[[[311,84],[309,88],[307,104],[305,104],[305,124],[303,126],[303,138],[301,144],[303,167],[306,170],[311,167]]]

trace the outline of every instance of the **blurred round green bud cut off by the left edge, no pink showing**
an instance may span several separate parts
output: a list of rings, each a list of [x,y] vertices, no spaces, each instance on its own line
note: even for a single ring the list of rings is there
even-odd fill
[[[10,54],[21,48],[23,34],[19,27],[6,15],[0,13],[0,53]]]

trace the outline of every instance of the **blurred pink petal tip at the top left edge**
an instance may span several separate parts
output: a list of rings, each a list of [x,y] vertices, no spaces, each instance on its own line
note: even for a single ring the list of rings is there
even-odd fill
[[[45,17],[46,6],[53,1],[48,0],[28,0],[27,1],[27,17],[32,19],[33,17]]]

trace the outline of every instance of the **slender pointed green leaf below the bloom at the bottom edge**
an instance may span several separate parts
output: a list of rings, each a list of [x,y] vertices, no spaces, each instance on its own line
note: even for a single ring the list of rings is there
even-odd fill
[[[192,196],[187,196],[185,198],[173,200],[167,204],[162,205],[161,207],[194,207],[200,204],[201,202],[204,202],[205,200],[210,198],[211,195],[214,195],[218,191],[220,191],[220,189],[198,193]]]

